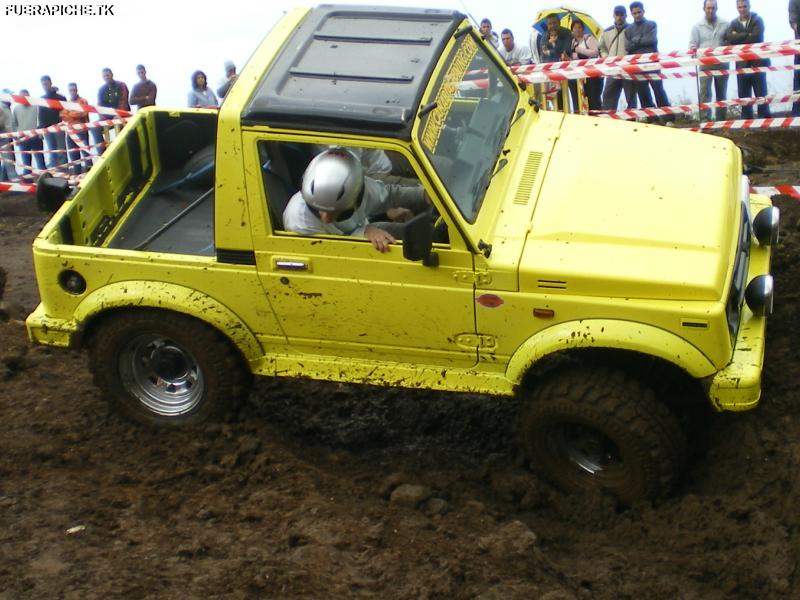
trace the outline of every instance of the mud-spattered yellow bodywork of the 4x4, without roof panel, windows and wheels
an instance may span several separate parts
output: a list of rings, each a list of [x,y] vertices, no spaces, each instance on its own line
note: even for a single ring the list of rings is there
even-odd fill
[[[28,318],[33,341],[75,345],[106,310],[152,307],[216,327],[261,375],[509,395],[541,358],[592,347],[668,361],[703,380],[717,409],[757,403],[764,319],[743,310],[735,340],[726,322],[741,224],[741,157],[730,142],[539,112],[520,94],[505,162],[470,223],[420,142],[420,119],[410,139],[242,125],[243,107],[307,12],[288,13],[269,33],[219,111],[218,254],[107,247],[159,172],[157,111],[145,111],[35,241],[42,303]],[[455,44],[432,65],[422,106],[437,97],[432,82]],[[122,146],[134,135],[153,172],[138,192],[128,191]],[[405,260],[399,245],[380,254],[363,239],[276,231],[263,141],[401,155],[447,225],[438,266]],[[636,148],[647,155],[630,156]],[[687,165],[702,167],[687,174]],[[754,212],[768,205],[751,202]],[[768,268],[769,249],[754,242],[748,281]],[[86,291],[62,289],[64,270],[80,273]]]

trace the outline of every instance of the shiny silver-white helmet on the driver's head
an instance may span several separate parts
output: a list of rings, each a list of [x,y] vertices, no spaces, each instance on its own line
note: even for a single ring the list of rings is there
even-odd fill
[[[315,211],[341,213],[354,208],[364,189],[364,169],[346,148],[329,148],[303,173],[303,200]]]

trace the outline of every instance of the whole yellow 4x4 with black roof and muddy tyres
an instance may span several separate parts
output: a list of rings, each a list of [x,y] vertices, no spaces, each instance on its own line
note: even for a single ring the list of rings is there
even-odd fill
[[[424,188],[388,252],[284,229],[328,146]],[[141,422],[251,374],[518,394],[534,465],[632,501],[680,476],[682,406],[759,400],[778,215],[737,148],[540,111],[457,12],[290,12],[218,113],[143,110],[74,193],[40,188],[30,337],[87,347]]]

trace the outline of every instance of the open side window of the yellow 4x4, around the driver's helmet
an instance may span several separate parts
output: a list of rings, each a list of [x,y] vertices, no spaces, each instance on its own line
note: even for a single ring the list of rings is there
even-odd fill
[[[276,231],[364,238],[364,229],[372,225],[402,240],[404,222],[422,212],[431,212],[422,185],[402,154],[357,146],[347,147],[364,173],[362,194],[355,206],[333,216],[309,207],[300,194],[303,175],[311,160],[330,148],[334,146],[266,140],[258,143],[265,196]]]

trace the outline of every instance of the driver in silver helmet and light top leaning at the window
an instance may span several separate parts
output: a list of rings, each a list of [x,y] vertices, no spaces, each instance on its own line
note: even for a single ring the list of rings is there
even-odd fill
[[[402,238],[403,223],[426,207],[422,186],[384,184],[364,176],[361,161],[346,148],[329,148],[303,173],[302,189],[283,212],[287,230],[366,237],[376,250]],[[383,214],[389,222],[370,222]]]

